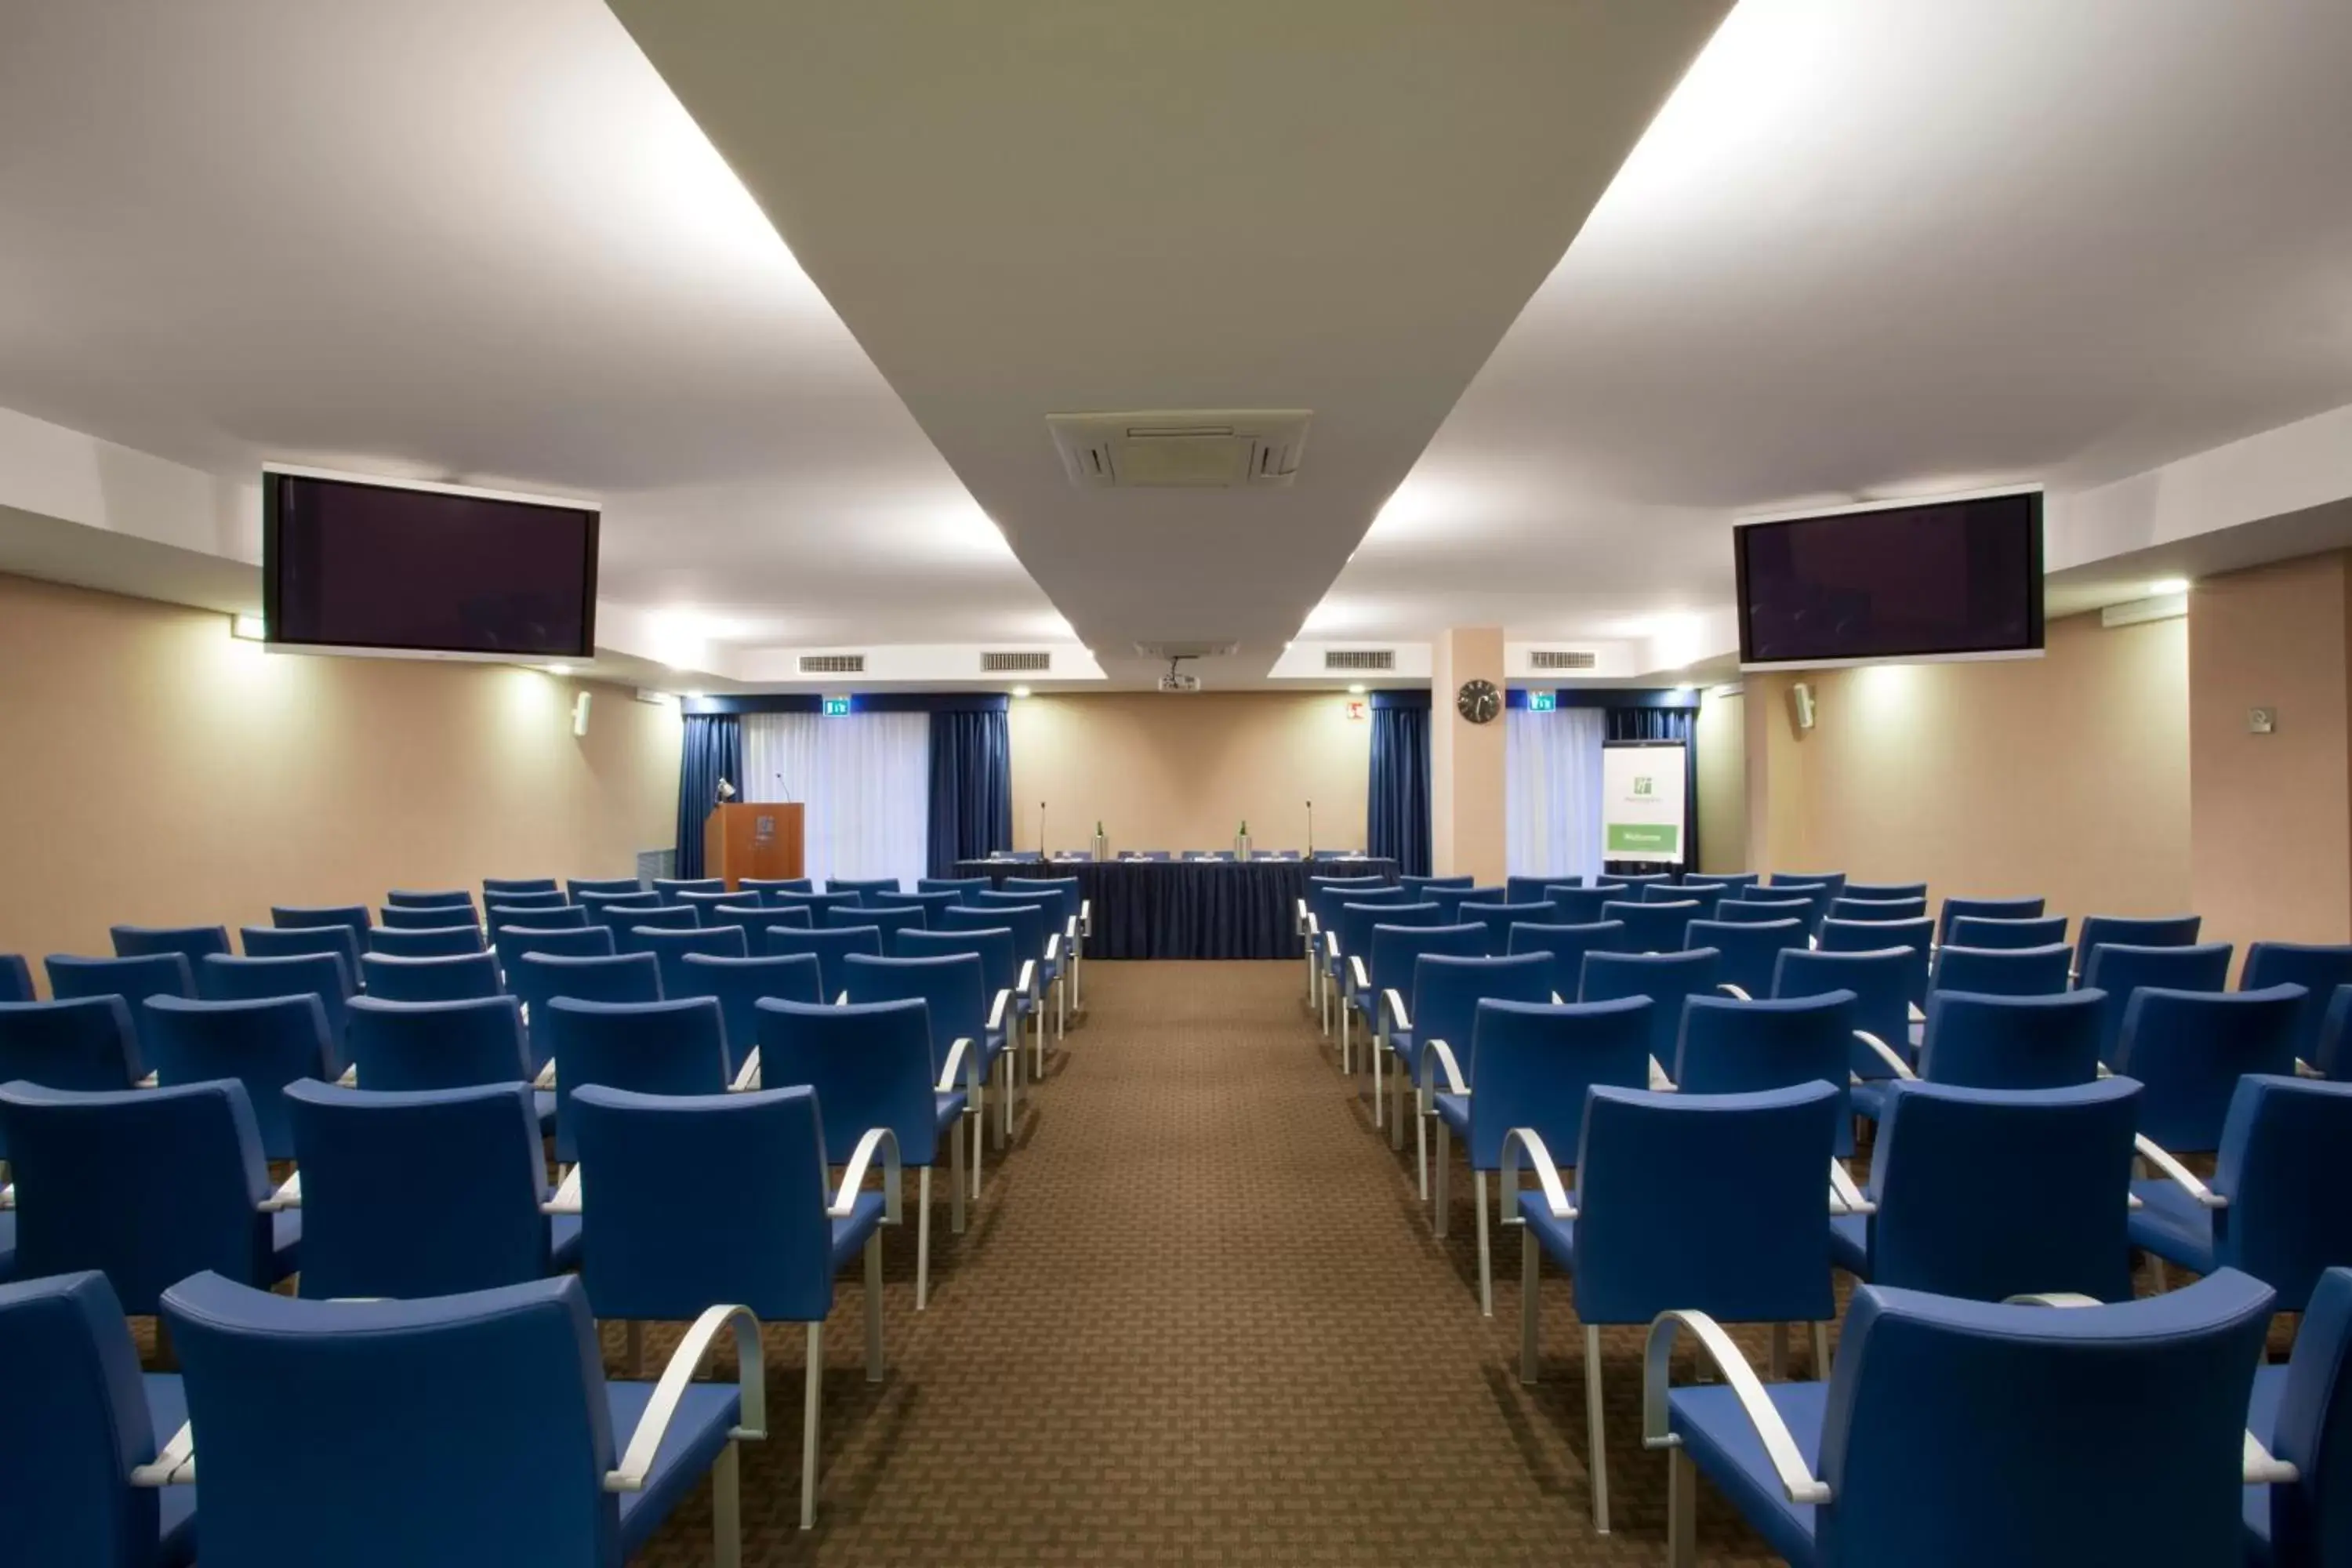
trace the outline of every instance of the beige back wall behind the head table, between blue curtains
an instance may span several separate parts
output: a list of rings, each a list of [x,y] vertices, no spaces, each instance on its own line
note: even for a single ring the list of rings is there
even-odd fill
[[[1124,849],[1364,849],[1371,722],[1331,691],[1033,696],[1011,708],[1014,839],[1084,849],[1094,823]]]

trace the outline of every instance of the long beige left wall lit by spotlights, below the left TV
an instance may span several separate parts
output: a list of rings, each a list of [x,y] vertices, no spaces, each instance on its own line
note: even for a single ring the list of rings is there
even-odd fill
[[[677,712],[510,665],[306,658],[228,616],[0,576],[0,952],[268,924],[675,837]],[[38,969],[38,961],[35,961]]]

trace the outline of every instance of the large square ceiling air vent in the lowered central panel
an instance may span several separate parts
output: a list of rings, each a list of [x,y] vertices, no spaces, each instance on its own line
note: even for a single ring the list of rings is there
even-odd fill
[[[1080,489],[1247,489],[1289,484],[1308,447],[1308,409],[1047,414]]]

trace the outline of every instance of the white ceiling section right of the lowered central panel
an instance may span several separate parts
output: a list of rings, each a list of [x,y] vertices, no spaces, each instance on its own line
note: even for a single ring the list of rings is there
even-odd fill
[[[1310,628],[1644,635],[1736,512],[2352,402],[2347,61],[2343,0],[1740,0]]]

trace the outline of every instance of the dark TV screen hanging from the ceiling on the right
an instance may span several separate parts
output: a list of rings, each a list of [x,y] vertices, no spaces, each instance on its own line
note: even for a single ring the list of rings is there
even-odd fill
[[[2042,649],[2042,494],[1733,529],[1740,663]]]

